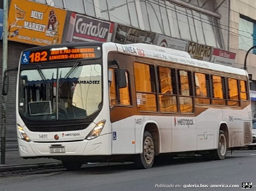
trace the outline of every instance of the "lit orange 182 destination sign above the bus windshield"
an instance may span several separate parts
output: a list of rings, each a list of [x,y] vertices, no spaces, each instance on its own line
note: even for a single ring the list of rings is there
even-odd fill
[[[97,59],[101,57],[100,46],[61,47],[48,50],[24,51],[21,64],[33,64],[75,59]]]

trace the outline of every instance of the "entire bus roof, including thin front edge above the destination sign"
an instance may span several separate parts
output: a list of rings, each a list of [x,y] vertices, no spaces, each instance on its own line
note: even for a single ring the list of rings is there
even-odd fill
[[[160,46],[151,45],[151,44],[143,44],[143,43],[121,45],[113,42],[73,42],[73,43],[34,47],[34,48],[26,49],[24,51],[45,50],[45,49],[60,48],[60,47],[72,47],[72,46],[75,47],[75,46],[86,46],[86,45],[102,46],[103,44],[106,47],[115,46],[118,52],[122,52],[126,54],[247,76],[247,72],[243,69],[233,68],[230,66],[224,66],[220,64],[211,63],[211,62],[205,62],[197,59],[192,59],[190,55],[185,51],[179,51],[179,50],[174,50],[174,49],[160,47]]]

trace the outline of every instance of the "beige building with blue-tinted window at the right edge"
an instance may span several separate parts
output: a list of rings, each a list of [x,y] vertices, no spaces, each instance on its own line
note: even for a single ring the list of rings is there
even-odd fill
[[[256,1],[232,0],[229,14],[228,50],[236,53],[234,67],[244,68],[246,52],[256,45]],[[250,83],[252,115],[256,118],[256,49],[247,56],[247,71],[252,75]]]

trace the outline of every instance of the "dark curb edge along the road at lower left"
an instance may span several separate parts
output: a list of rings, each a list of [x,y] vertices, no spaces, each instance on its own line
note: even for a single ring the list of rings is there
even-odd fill
[[[53,163],[42,163],[42,164],[25,164],[25,165],[17,165],[17,166],[7,166],[0,167],[0,172],[6,171],[18,171],[18,170],[32,170],[39,168],[53,168],[53,167],[61,167],[61,162],[53,162]]]

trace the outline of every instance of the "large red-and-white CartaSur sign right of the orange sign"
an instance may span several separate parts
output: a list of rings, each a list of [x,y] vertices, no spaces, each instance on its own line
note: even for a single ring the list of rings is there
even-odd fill
[[[111,41],[114,23],[71,13],[66,42]]]

